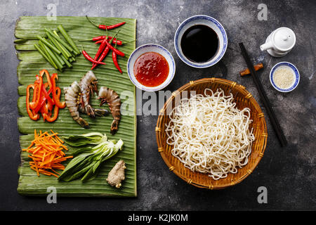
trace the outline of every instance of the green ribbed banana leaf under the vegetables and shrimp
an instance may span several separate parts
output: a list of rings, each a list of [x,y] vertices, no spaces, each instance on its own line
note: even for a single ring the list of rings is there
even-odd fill
[[[136,20],[130,18],[92,18],[96,23],[112,25],[125,21],[126,24],[116,28],[114,30],[109,30],[109,35],[113,36],[117,30],[120,30],[118,39],[123,42],[133,41],[136,39]],[[20,117],[18,118],[18,129],[21,134],[20,136],[20,147],[27,148],[30,141],[34,139],[34,129],[37,131],[50,131],[52,129],[58,132],[58,135],[70,136],[75,134],[86,134],[88,132],[100,132],[102,134],[107,134],[109,139],[124,141],[124,148],[117,153],[110,160],[105,161],[100,167],[96,179],[91,181],[82,182],[80,179],[62,182],[58,181],[55,176],[46,176],[40,174],[37,176],[36,172],[29,168],[29,158],[28,153],[21,151],[21,164],[18,168],[18,173],[20,174],[18,182],[18,193],[21,195],[48,195],[47,188],[55,187],[58,196],[126,196],[134,197],[137,195],[136,188],[136,113],[135,113],[135,86],[131,83],[129,76],[126,71],[126,63],[136,47],[135,42],[129,44],[118,46],[120,51],[123,51],[126,56],[124,58],[118,56],[118,62],[123,70],[123,74],[114,66],[112,62],[112,54],[109,54],[104,62],[106,65],[98,65],[98,67],[93,70],[98,79],[98,88],[100,86],[108,86],[110,89],[117,91],[117,94],[121,95],[123,91],[130,91],[133,96],[121,98],[122,103],[124,101],[129,102],[129,107],[126,108],[126,114],[122,115],[121,121],[119,123],[119,129],[117,134],[110,134],[110,126],[112,124],[112,115],[106,117],[98,117],[96,119],[91,119],[84,114],[81,117],[84,118],[89,124],[91,129],[84,129],[72,120],[70,113],[67,108],[60,110],[58,119],[53,122],[43,122],[43,118],[40,120],[33,121],[30,120],[25,105],[26,96],[26,86],[28,84],[33,84],[35,80],[35,75],[39,74],[39,70],[46,69],[50,74],[56,72],[58,73],[57,86],[61,89],[65,86],[69,86],[77,80],[81,79],[88,70],[91,69],[91,63],[84,58],[82,54],[76,57],[76,61],[72,63],[72,68],[66,68],[63,72],[55,70],[34,48],[34,44],[38,43],[37,35],[41,37],[45,36],[45,28],[50,28],[52,30],[58,30],[58,25],[62,25],[67,33],[72,37],[74,43],[81,49],[81,46],[94,57],[96,51],[98,50],[97,44],[93,41],[79,41],[79,39],[92,39],[92,37],[97,37],[100,35],[105,35],[104,30],[99,30],[97,27],[91,25],[91,23],[86,20],[85,17],[57,17],[56,20],[47,20],[46,17],[21,17],[15,27],[15,49],[18,51],[18,59],[20,63],[18,65],[18,94],[20,98],[18,99],[18,111]],[[126,96],[126,95],[125,95]],[[61,100],[63,101],[64,93],[62,91]],[[93,108],[99,108],[100,101],[96,96],[91,96],[91,105]],[[102,108],[107,108],[103,105]],[[108,109],[108,108],[107,108]],[[76,148],[69,146],[69,150],[66,155],[72,155],[76,151]],[[105,181],[107,174],[110,172],[112,167],[120,159],[124,160],[126,163],[125,175],[126,179],[123,181],[121,188],[117,189]],[[69,163],[70,160],[65,162],[65,165]]]

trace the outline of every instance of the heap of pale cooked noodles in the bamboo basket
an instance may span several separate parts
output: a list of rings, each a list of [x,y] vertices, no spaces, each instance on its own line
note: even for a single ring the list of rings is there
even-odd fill
[[[249,130],[250,109],[239,110],[233,101],[222,89],[205,89],[204,96],[183,98],[173,108],[166,142],[185,167],[217,180],[248,163],[255,139]]]

